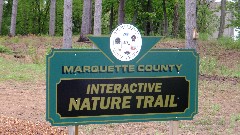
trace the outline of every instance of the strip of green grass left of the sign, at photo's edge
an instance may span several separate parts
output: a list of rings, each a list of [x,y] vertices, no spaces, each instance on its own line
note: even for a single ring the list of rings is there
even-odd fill
[[[0,58],[0,81],[37,81],[44,80],[44,64],[26,64]]]

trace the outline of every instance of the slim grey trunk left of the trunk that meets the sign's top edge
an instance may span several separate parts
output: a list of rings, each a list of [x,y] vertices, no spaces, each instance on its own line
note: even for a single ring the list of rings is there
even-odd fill
[[[55,35],[55,17],[56,17],[56,0],[51,0],[50,5],[50,20],[49,20],[49,35]]]

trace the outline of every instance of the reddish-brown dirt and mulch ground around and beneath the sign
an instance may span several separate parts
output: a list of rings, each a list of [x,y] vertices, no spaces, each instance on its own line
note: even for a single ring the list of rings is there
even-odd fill
[[[201,57],[217,55],[226,65],[240,63],[239,51],[220,49],[216,53],[204,44],[198,49]],[[240,135],[240,78],[200,74],[198,104],[199,113],[193,120],[179,122],[179,134]],[[45,111],[44,80],[34,83],[0,81],[0,135],[67,134],[67,127],[52,127],[45,120]],[[85,125],[79,126],[79,134],[169,134],[169,122]]]

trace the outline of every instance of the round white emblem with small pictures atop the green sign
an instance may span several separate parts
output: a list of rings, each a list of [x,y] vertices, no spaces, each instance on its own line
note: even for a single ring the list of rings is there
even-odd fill
[[[111,34],[110,49],[121,61],[130,61],[140,52],[142,37],[136,27],[130,24],[119,25]]]

